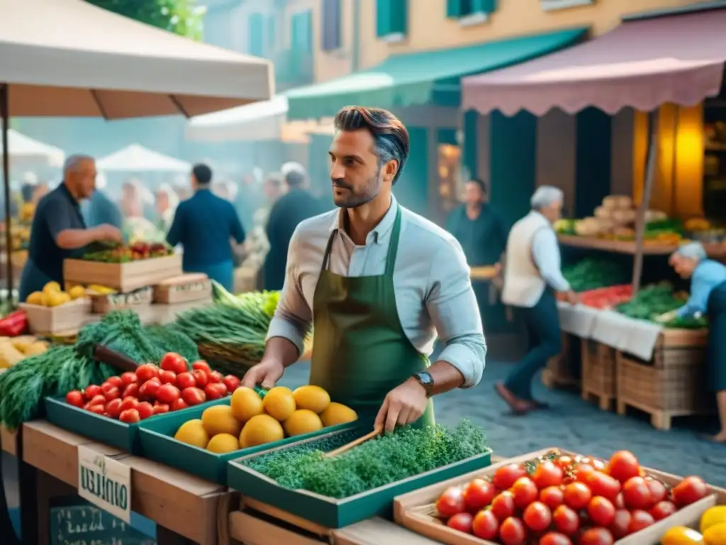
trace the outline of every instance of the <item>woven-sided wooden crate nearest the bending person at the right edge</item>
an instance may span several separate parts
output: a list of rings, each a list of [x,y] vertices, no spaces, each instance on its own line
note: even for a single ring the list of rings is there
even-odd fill
[[[657,429],[670,429],[677,416],[713,413],[714,402],[705,395],[706,333],[666,329],[650,361],[617,351],[618,413],[627,407],[645,411]]]

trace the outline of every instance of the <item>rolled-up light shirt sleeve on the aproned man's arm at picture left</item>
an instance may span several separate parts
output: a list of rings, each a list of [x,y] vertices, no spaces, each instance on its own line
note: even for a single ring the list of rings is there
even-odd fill
[[[303,353],[305,337],[310,331],[313,314],[303,296],[298,275],[298,259],[300,259],[300,234],[298,230],[290,239],[287,248],[287,267],[285,269],[285,283],[282,286],[280,302],[270,321],[267,330],[267,339],[283,337],[295,344],[298,354]]]

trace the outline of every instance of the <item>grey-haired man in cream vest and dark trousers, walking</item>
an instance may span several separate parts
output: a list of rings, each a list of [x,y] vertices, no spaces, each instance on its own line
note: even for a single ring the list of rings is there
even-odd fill
[[[532,378],[547,360],[560,353],[560,318],[555,291],[576,304],[577,295],[560,270],[560,248],[552,224],[560,218],[563,193],[543,185],[531,198],[531,212],[514,224],[507,238],[502,302],[514,307],[525,325],[529,352],[497,384],[497,393],[515,414],[526,414],[544,403],[534,400]]]

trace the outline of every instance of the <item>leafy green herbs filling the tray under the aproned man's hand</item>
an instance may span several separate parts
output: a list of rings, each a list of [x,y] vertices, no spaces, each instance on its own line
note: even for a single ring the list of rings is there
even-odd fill
[[[242,463],[286,488],[347,498],[486,451],[484,433],[465,420],[453,430],[441,425],[402,427],[339,456],[324,457],[325,451],[358,435],[351,431],[333,438],[322,437],[250,457]]]

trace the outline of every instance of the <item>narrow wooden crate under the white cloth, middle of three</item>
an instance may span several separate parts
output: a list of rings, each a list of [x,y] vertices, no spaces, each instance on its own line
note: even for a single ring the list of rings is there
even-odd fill
[[[607,344],[582,339],[582,399],[595,397],[603,411],[609,411],[616,399],[615,352]]]

